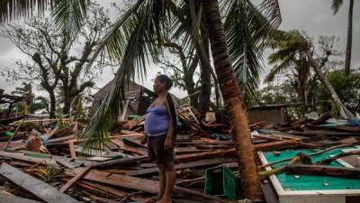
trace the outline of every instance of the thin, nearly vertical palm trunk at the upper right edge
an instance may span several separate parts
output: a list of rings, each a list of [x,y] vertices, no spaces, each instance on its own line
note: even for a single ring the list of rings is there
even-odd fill
[[[347,16],[347,55],[345,58],[345,75],[350,74],[351,65],[351,47],[353,43],[353,10],[354,0],[350,0],[349,12]]]

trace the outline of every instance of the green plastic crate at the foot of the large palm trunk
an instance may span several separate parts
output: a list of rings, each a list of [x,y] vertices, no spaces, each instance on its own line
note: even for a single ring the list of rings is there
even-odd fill
[[[229,168],[221,166],[205,171],[205,194],[236,200],[236,187],[237,178]]]

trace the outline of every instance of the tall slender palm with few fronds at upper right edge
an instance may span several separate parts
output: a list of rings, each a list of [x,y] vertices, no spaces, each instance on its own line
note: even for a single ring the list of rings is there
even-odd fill
[[[349,11],[347,14],[347,53],[345,57],[345,74],[348,76],[350,74],[351,66],[351,49],[353,43],[353,10],[354,10],[354,0],[349,0]],[[334,14],[338,14],[338,9],[343,5],[344,0],[332,0],[331,8],[334,11]]]

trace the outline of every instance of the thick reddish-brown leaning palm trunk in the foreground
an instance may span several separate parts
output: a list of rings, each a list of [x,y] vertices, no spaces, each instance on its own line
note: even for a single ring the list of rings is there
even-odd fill
[[[217,0],[207,0],[202,1],[202,4],[206,17],[206,27],[210,31],[209,39],[216,75],[229,115],[232,134],[237,143],[240,185],[247,198],[257,200],[261,198],[261,191],[254,147],[250,139],[247,111],[243,99],[240,97],[240,88],[229,58],[219,3]]]

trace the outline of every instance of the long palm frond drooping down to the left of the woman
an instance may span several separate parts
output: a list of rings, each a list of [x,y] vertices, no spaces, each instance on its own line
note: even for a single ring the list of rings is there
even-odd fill
[[[114,86],[86,126],[85,132],[80,135],[86,140],[84,144],[87,149],[103,147],[109,130],[117,120],[130,79],[134,79],[136,74],[143,77],[148,57],[157,55],[158,47],[154,42],[162,38],[160,31],[168,15],[166,4],[166,0],[138,1],[132,13],[124,14],[120,19],[122,23],[115,23],[117,29],[112,27],[104,38],[106,41],[103,41],[103,46],[99,47],[106,47],[112,59],[121,61],[121,66],[113,79]]]

